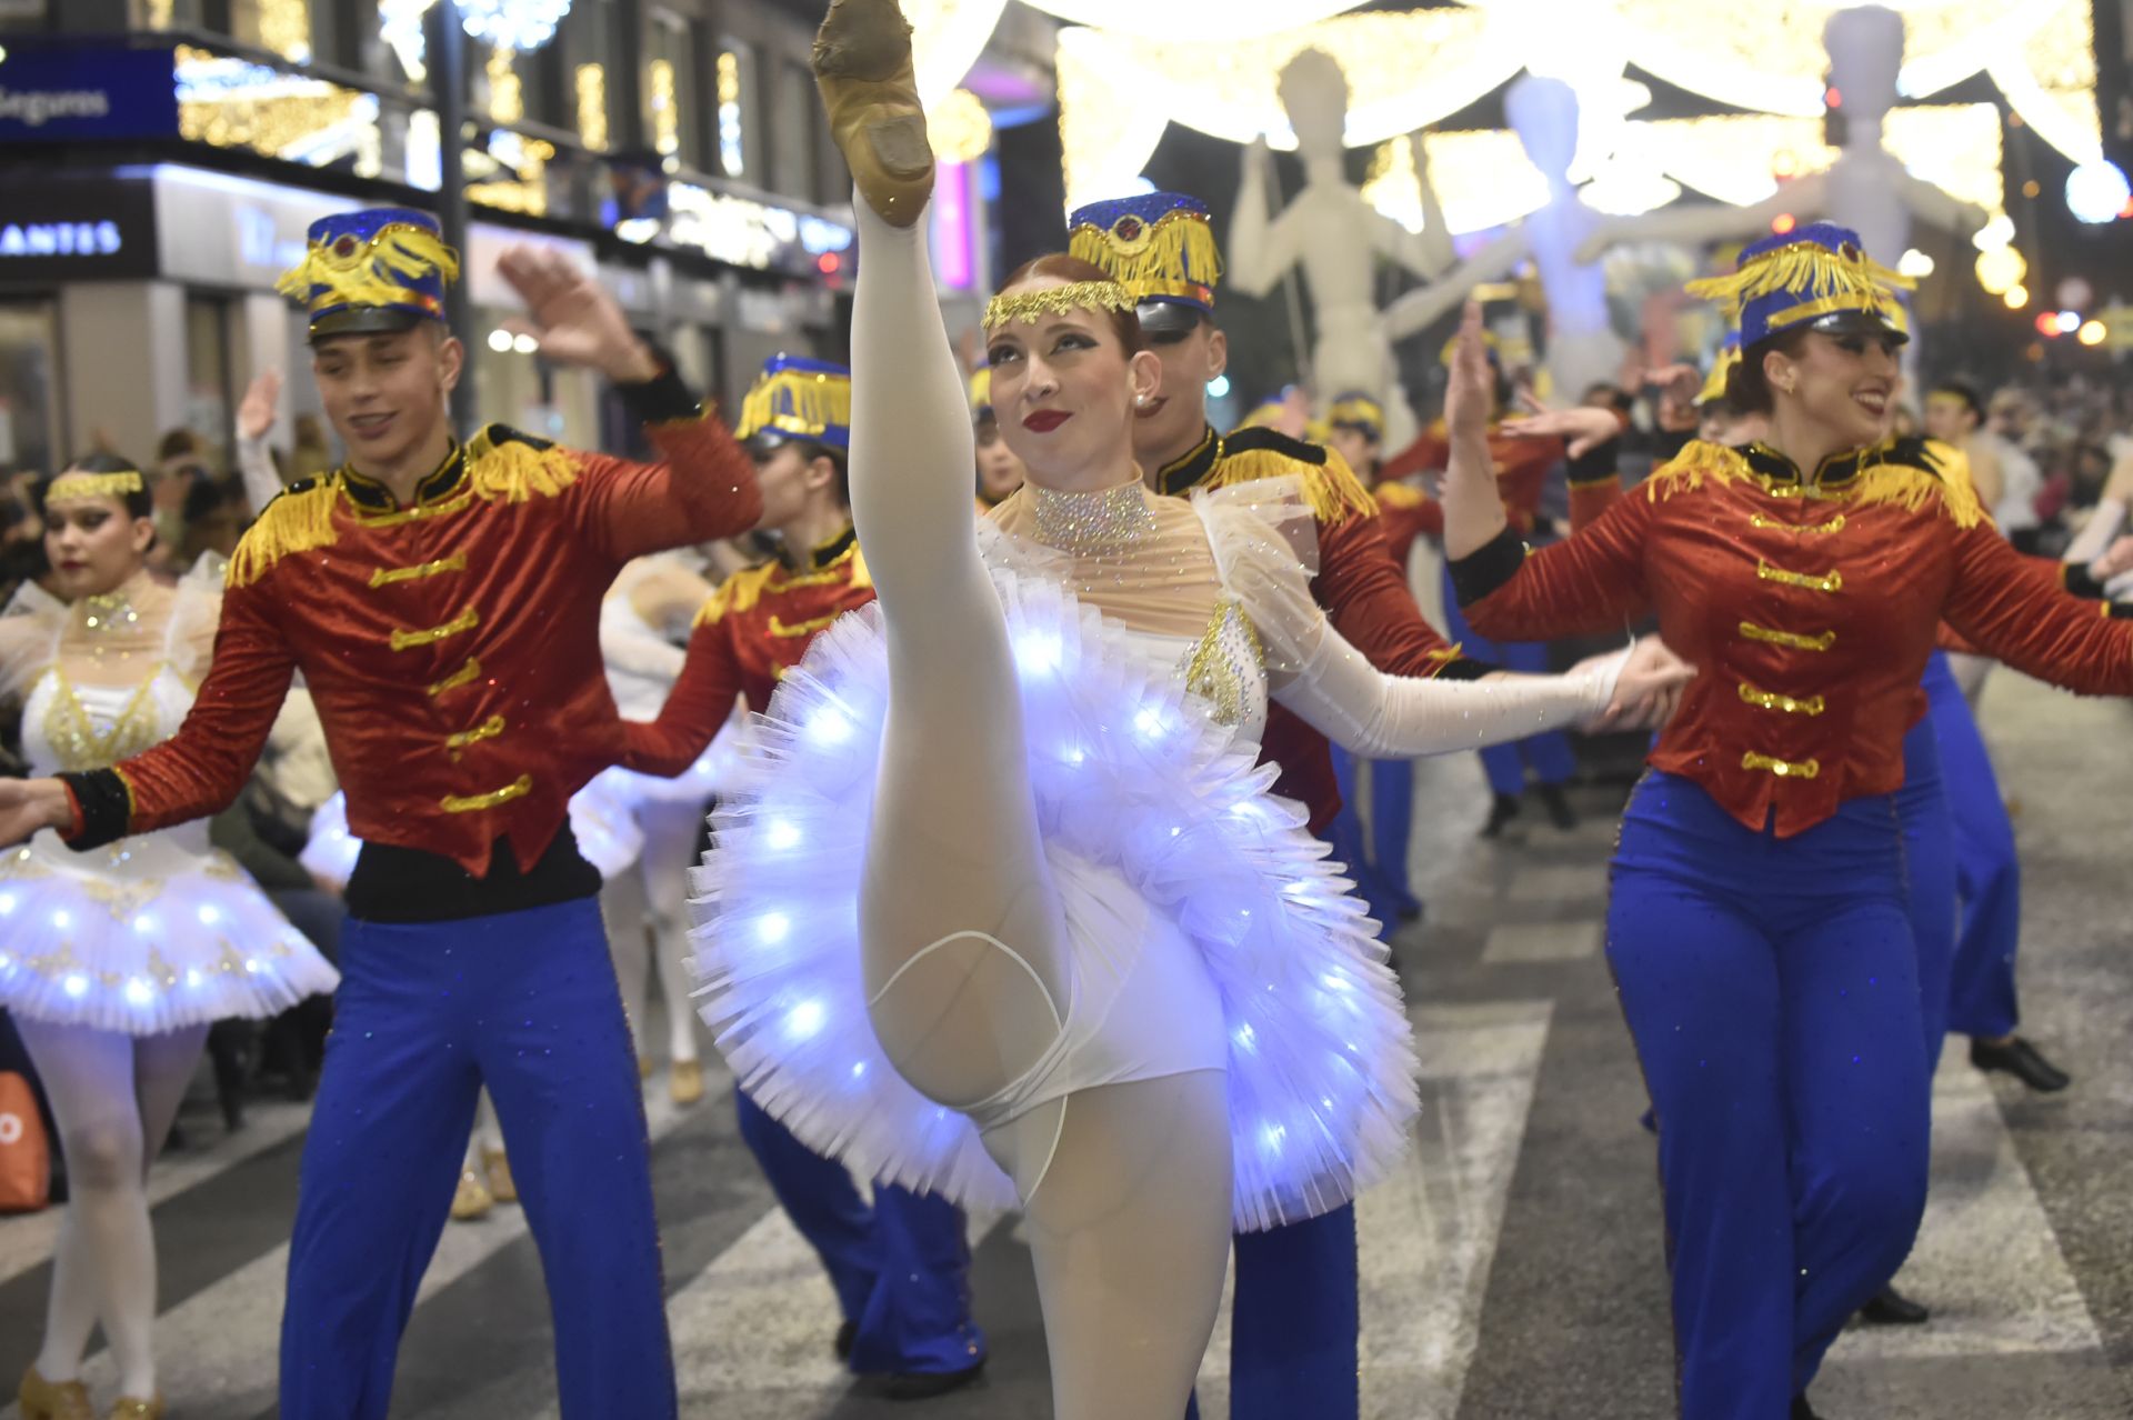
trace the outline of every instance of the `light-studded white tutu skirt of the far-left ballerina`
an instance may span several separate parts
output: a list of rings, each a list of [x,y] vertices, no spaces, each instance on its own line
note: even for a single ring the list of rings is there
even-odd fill
[[[90,853],[38,834],[0,857],[0,1006],[17,1015],[156,1036],[339,983],[205,825]]]

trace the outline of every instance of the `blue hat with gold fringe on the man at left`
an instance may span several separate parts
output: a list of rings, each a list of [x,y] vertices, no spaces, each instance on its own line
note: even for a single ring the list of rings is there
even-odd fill
[[[444,243],[435,217],[367,207],[314,222],[303,260],[275,290],[309,307],[316,343],[442,322],[444,288],[456,279],[459,252]]]

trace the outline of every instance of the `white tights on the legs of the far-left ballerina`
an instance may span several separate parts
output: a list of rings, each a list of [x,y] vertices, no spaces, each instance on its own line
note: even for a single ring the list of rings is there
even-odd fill
[[[90,1335],[102,1322],[119,1392],[145,1401],[156,1394],[147,1166],[177,1119],[207,1026],[126,1036],[17,1019],[15,1030],[36,1064],[66,1153],[66,1213],[51,1254],[36,1371],[49,1382],[77,1379]]]

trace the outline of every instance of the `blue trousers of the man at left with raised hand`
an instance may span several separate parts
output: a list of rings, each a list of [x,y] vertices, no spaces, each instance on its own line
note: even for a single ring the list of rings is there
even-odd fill
[[[584,898],[348,921],[288,1254],[284,1420],[384,1420],[482,1085],[548,1279],[563,1416],[676,1414],[644,1100]]]

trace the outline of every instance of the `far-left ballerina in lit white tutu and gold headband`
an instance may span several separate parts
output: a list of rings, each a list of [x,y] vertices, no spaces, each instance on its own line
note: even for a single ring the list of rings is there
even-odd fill
[[[117,763],[192,708],[222,584],[149,578],[151,512],[141,471],[102,454],[45,493],[45,550],[70,603],[17,597],[0,616],[0,680],[28,691],[32,774]],[[0,855],[0,1006],[45,1081],[70,1190],[26,1416],[90,1414],[79,1375],[98,1322],[124,1392],[115,1414],[162,1414],[147,1164],[209,1023],[264,1019],[335,985],[311,942],[209,849],[205,821],[98,853],[41,832]]]

